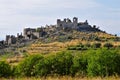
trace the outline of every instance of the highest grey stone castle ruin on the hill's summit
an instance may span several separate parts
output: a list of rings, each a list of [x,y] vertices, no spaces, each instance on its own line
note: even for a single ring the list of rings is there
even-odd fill
[[[87,20],[85,22],[78,22],[78,18],[74,17],[71,21],[69,18],[65,18],[63,21],[57,19],[57,27],[60,28],[72,28],[78,31],[92,31],[93,28],[88,24]]]

